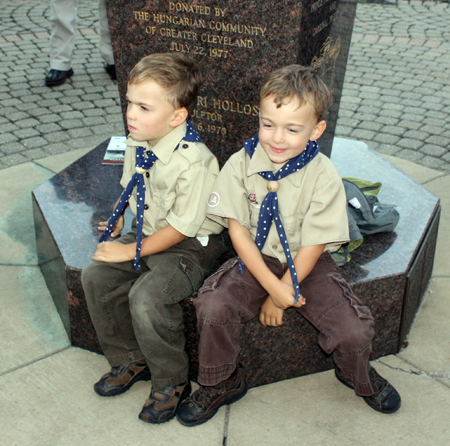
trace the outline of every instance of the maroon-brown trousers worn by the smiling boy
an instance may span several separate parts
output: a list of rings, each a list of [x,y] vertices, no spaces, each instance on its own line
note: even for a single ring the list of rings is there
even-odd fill
[[[270,270],[281,278],[287,265],[263,257]],[[322,254],[300,289],[306,304],[295,310],[319,330],[319,345],[333,354],[336,366],[354,384],[358,395],[373,395],[375,389],[368,376],[373,318],[353,294],[329,253]],[[266,298],[267,292],[248,269],[243,274],[239,272],[236,258],[205,281],[195,300],[200,384],[216,385],[230,376],[239,355],[241,323],[257,316]]]

